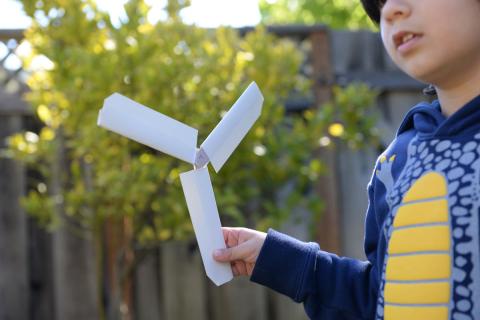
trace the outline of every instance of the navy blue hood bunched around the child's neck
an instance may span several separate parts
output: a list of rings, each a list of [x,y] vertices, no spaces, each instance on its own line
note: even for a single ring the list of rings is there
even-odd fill
[[[420,139],[471,134],[480,130],[480,96],[469,101],[450,117],[442,114],[440,102],[421,102],[403,120],[397,135],[415,130]]]

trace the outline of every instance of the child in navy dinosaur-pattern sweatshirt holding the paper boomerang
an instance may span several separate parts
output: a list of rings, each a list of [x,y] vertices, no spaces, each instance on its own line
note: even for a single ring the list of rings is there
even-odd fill
[[[367,261],[224,228],[235,275],[312,319],[480,319],[480,1],[362,0],[393,61],[438,100],[407,113],[368,185]]]

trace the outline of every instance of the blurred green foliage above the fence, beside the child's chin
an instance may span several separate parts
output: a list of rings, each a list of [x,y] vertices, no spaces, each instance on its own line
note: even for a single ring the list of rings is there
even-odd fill
[[[375,28],[359,0],[260,0],[266,24],[326,24],[334,29]]]

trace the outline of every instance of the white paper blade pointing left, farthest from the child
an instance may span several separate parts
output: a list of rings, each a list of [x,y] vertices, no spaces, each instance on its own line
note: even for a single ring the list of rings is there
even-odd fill
[[[97,124],[186,162],[195,162],[197,129],[121,94],[105,99]]]

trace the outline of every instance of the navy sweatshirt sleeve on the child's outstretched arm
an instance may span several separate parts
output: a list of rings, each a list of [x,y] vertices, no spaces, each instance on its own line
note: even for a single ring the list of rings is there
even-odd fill
[[[339,257],[269,230],[251,281],[302,302],[311,319],[373,319],[379,272],[376,267],[378,227],[369,184],[365,250],[367,261]]]

